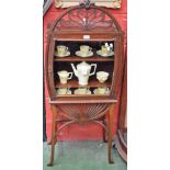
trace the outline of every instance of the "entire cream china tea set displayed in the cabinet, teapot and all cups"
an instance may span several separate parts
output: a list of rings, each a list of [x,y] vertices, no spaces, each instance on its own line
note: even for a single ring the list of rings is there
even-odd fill
[[[107,44],[101,46],[100,50],[97,50],[97,54],[103,57],[112,56],[114,54],[113,44]],[[57,57],[66,57],[69,56],[70,52],[68,47],[65,45],[58,45],[57,50],[55,52],[55,56]],[[76,52],[76,55],[79,57],[91,57],[93,56],[92,48],[88,45],[80,45],[80,49]],[[70,64],[72,68],[72,72],[68,72],[67,70],[58,71],[59,81],[61,84],[67,84],[67,81],[70,80],[75,73],[78,78],[79,86],[88,86],[89,77],[95,75],[97,64],[88,64],[82,61],[75,66],[75,64]],[[97,79],[100,83],[104,83],[109,78],[109,72],[105,71],[98,71]],[[93,90],[94,94],[109,94],[109,88],[101,87]],[[71,94],[70,88],[59,88],[57,90],[58,94]],[[86,87],[80,87],[73,91],[75,94],[91,94],[91,90]]]

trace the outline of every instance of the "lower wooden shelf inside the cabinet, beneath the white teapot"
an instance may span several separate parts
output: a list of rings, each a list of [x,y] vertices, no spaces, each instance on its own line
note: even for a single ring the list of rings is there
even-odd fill
[[[61,84],[59,81],[56,82],[56,88],[79,88],[79,87],[87,87],[87,88],[97,88],[97,87],[111,87],[111,81],[107,80],[104,83],[100,83],[98,80],[89,80],[87,86],[80,86],[78,80],[69,80],[66,84]]]

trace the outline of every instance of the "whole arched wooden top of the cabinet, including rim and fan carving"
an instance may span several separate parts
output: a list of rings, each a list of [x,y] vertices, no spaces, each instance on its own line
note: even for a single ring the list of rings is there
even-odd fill
[[[93,4],[88,9],[84,5],[76,5],[64,11],[50,27],[50,32],[60,31],[109,31],[122,33],[120,24],[110,12]]]

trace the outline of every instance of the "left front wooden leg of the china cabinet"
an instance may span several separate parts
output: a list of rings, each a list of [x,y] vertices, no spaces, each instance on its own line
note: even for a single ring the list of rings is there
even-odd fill
[[[47,166],[52,167],[55,156],[55,144],[56,144],[56,127],[57,127],[57,107],[56,105],[52,105],[52,113],[53,113],[53,124],[52,124],[52,148],[50,148],[50,160]]]

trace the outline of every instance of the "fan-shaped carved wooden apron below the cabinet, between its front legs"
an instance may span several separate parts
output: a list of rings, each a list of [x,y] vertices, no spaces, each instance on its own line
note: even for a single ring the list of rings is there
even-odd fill
[[[89,121],[97,120],[109,111],[107,104],[60,104],[59,110],[66,117],[83,124]]]

